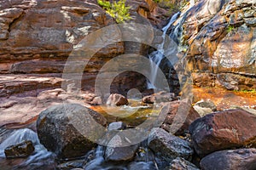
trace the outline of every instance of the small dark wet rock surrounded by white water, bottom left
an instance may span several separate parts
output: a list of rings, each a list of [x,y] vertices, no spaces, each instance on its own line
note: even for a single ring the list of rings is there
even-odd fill
[[[20,144],[10,145],[4,150],[6,158],[27,157],[35,150],[32,141],[27,140]]]

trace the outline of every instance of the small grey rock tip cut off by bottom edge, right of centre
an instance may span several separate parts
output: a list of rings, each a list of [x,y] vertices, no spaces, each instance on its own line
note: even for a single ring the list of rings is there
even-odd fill
[[[171,166],[166,167],[165,170],[199,170],[193,163],[177,157],[171,162]]]

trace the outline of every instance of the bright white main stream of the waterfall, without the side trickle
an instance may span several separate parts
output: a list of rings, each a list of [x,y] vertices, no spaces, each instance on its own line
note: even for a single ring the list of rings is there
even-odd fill
[[[162,35],[162,42],[157,46],[158,50],[154,51],[153,53],[148,55],[148,59],[150,61],[150,79],[151,82],[147,82],[148,89],[155,88],[155,80],[157,77],[157,69],[155,69],[155,66],[159,68],[161,60],[164,58],[165,53],[165,42],[166,42],[166,32],[168,31],[169,27],[172,26],[172,24],[177,20],[180,12],[173,14],[171,20],[168,22],[168,24],[162,28],[163,35]],[[169,49],[168,49],[169,50]],[[172,52],[172,50],[170,50]]]

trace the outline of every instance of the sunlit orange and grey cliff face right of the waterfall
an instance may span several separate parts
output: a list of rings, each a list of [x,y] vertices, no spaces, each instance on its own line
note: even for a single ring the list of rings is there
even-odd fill
[[[212,5],[214,3],[214,5]],[[255,1],[198,1],[174,24],[196,86],[256,88]],[[180,26],[180,25],[182,26]],[[183,50],[187,49],[188,50]]]

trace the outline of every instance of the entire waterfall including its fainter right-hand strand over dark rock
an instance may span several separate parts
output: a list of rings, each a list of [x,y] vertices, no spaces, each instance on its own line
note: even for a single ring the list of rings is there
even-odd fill
[[[148,54],[148,59],[150,60],[151,63],[151,67],[150,67],[150,80],[151,82],[147,82],[147,88],[154,88],[156,89],[156,84],[155,82],[157,82],[156,78],[158,75],[158,71],[157,68],[160,68],[162,63],[161,61],[165,58],[166,61],[163,61],[163,65],[167,65],[167,67],[169,68],[169,71],[164,72],[166,74],[168,74],[169,72],[169,76],[166,77],[167,79],[171,79],[170,75],[171,71],[173,70],[173,65],[172,64],[176,64],[178,59],[177,56],[175,57],[174,54],[177,54],[177,50],[178,50],[178,45],[179,42],[182,38],[183,35],[183,23],[185,22],[185,20],[189,17],[189,15],[191,15],[190,11],[192,8],[195,8],[195,1],[190,1],[190,7],[187,8],[185,11],[183,11],[183,14],[181,14],[181,12],[177,12],[176,14],[172,15],[171,20],[169,20],[168,24],[162,28],[163,31],[163,35],[162,35],[162,39],[163,41],[157,46],[158,50],[154,51],[151,54]],[[174,22],[176,22],[175,26],[173,26]],[[166,42],[166,35],[168,35],[168,37],[170,37],[172,39],[172,42]],[[173,43],[176,44],[173,45]],[[171,62],[168,62],[171,61]],[[162,68],[161,68],[162,69]],[[168,80],[169,81],[169,80]],[[172,82],[172,80],[170,80]],[[170,85],[170,82],[168,82]],[[172,83],[171,83],[172,84]],[[176,85],[174,85],[176,86]],[[173,88],[173,87],[170,87]]]

